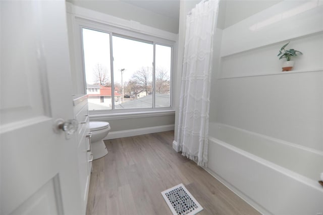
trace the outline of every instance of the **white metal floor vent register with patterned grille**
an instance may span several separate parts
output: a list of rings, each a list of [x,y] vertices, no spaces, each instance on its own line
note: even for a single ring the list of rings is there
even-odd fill
[[[165,190],[161,192],[161,195],[163,195],[173,214],[192,215],[203,209],[183,184]]]

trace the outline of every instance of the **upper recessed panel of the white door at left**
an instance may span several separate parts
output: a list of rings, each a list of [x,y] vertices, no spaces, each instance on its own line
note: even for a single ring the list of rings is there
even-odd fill
[[[45,81],[40,81],[38,65],[36,14],[34,5],[21,2],[1,4],[1,111],[2,122],[9,123],[43,116],[43,102],[38,99]],[[9,21],[10,20],[10,21]],[[48,95],[44,95],[48,96]]]

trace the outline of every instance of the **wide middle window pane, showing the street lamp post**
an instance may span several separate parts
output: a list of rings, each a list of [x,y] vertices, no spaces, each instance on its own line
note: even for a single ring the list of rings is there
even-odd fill
[[[153,45],[113,36],[115,108],[152,107]]]

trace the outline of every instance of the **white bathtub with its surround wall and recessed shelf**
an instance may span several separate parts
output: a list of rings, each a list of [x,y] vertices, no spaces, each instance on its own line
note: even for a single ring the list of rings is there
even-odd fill
[[[322,3],[282,1],[214,38],[207,170],[263,214],[323,211]],[[304,55],[281,72],[288,41]]]

